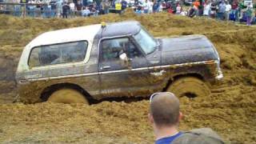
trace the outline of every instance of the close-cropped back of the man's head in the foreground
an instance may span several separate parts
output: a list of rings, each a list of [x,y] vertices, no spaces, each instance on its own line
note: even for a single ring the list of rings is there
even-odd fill
[[[174,126],[179,118],[179,100],[171,93],[160,93],[150,102],[150,114],[157,126]]]

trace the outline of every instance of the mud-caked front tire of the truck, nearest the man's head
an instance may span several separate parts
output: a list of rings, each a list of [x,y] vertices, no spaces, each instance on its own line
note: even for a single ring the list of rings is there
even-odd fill
[[[177,97],[206,97],[210,94],[210,88],[199,78],[178,78],[167,89]]]

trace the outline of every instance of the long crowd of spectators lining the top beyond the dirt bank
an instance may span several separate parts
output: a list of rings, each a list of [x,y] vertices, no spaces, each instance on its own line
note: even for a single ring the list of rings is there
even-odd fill
[[[3,0],[0,0],[3,1]],[[191,18],[204,16],[218,20],[246,22],[248,26],[255,23],[252,3],[247,6],[238,0],[195,0],[190,8],[181,0],[12,0],[15,16],[43,18],[90,17],[98,14],[122,14],[127,7],[136,14],[150,14],[166,11],[171,14],[186,15]],[[1,5],[2,6],[2,5]]]

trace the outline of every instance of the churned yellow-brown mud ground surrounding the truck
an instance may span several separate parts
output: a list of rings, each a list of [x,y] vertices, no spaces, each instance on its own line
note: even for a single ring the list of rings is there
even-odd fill
[[[22,47],[48,30],[136,19],[157,37],[206,34],[222,59],[224,80],[210,97],[182,98],[181,130],[211,127],[230,143],[256,143],[256,29],[205,18],[169,14],[98,18],[30,19],[0,15],[0,142],[152,143],[149,102],[101,102],[93,106],[10,103]]]

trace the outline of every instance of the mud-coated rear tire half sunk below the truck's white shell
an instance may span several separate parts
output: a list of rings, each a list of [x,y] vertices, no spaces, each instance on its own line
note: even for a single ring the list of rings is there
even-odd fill
[[[73,89],[56,90],[50,95],[47,102],[89,104],[83,94],[79,93],[78,90]]]

